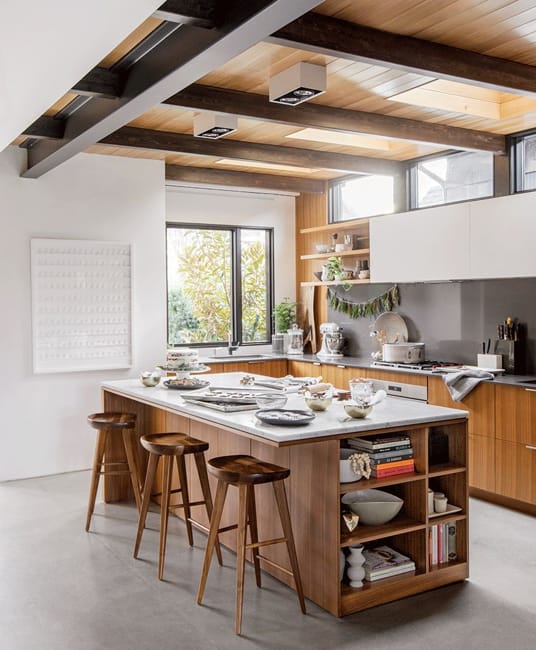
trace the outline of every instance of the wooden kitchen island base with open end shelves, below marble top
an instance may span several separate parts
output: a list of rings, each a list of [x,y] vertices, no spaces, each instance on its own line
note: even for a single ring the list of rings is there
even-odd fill
[[[416,472],[390,479],[369,479],[355,483],[339,482],[339,450],[345,438],[355,434],[277,443],[233,430],[230,426],[213,424],[210,413],[204,417],[181,414],[151,405],[148,401],[132,399],[103,389],[105,410],[136,413],[138,422],[135,434],[157,432],[183,432],[209,443],[207,457],[227,454],[251,454],[262,460],[290,468],[286,488],[298,553],[305,596],[334,616],[344,616],[375,605],[398,600],[429,589],[464,580],[468,576],[468,495],[467,495],[467,421],[463,414],[457,419],[434,421],[410,427],[389,427],[374,433],[404,431],[411,438],[415,454]],[[206,418],[206,419],[205,419]],[[428,466],[428,434],[431,428],[440,428],[448,435],[449,463]],[[138,468],[145,472],[145,458],[141,446],[138,450]],[[123,447],[114,447],[110,441],[106,449],[107,460],[118,460]],[[187,463],[193,462],[191,458]],[[191,500],[201,498],[197,472],[187,467]],[[429,519],[427,515],[427,489],[441,490],[449,502],[461,508],[455,515]],[[363,488],[382,488],[404,499],[399,515],[383,526],[358,526],[352,534],[341,529],[341,494]],[[211,489],[215,489],[212,482]],[[108,502],[130,498],[128,478],[105,478],[104,497]],[[257,513],[259,536],[281,536],[279,517],[270,485],[257,488]],[[236,522],[237,491],[230,489],[222,526]],[[197,508],[194,518],[208,525],[203,508]],[[430,568],[430,527],[436,523],[456,522],[456,553],[454,561]],[[235,550],[236,533],[221,535],[222,543]],[[413,573],[395,576],[376,582],[365,582],[354,589],[339,580],[341,548],[357,543],[388,544],[409,555],[416,565]],[[263,549],[263,569],[292,587],[288,576],[290,569],[284,545]]]

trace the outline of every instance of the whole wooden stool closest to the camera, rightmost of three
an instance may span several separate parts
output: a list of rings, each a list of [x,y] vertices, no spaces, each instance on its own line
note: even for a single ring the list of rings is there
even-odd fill
[[[253,456],[221,456],[212,458],[208,461],[208,471],[218,479],[216,497],[214,501],[214,513],[210,521],[210,531],[208,535],[207,548],[205,551],[205,561],[203,563],[203,572],[197,594],[197,603],[200,605],[205,591],[210,562],[214,545],[218,540],[218,534],[227,530],[238,529],[237,532],[237,560],[236,560],[236,616],[235,632],[240,634],[242,626],[242,601],[244,599],[244,567],[246,559],[246,550],[251,549],[253,555],[253,564],[255,567],[255,579],[257,586],[261,586],[261,569],[259,563],[259,548],[270,544],[279,544],[286,542],[290,558],[292,571],[289,575],[294,577],[296,592],[300,607],[305,614],[305,602],[303,599],[303,588],[301,584],[300,571],[298,568],[298,557],[294,546],[294,537],[292,534],[292,524],[288,510],[287,497],[285,493],[286,479],[290,470],[271,463],[265,463]],[[272,483],[274,496],[279,510],[281,526],[284,537],[270,539],[259,542],[257,533],[257,513],[255,507],[255,485],[261,483]],[[229,485],[238,487],[238,523],[233,526],[220,528],[220,521],[227,495]],[[246,544],[246,529],[249,525],[249,534],[251,543]]]

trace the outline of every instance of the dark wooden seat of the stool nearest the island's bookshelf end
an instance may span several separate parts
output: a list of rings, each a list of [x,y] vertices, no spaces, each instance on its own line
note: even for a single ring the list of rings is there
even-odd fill
[[[208,471],[226,483],[261,485],[282,481],[290,475],[286,467],[267,463],[253,456],[219,456],[208,461]]]

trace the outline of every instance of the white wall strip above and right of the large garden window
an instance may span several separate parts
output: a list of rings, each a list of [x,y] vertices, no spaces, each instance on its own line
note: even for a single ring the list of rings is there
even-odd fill
[[[295,198],[222,189],[168,186],[170,223],[210,223],[274,228],[275,301],[296,296]]]

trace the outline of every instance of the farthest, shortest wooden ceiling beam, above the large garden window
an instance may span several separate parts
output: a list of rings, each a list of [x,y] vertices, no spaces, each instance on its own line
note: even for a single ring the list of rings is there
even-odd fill
[[[204,185],[249,187],[263,190],[283,190],[286,192],[309,192],[320,194],[325,191],[326,182],[311,178],[275,176],[271,174],[252,174],[249,172],[220,171],[203,167],[181,167],[166,165],[166,180]]]

